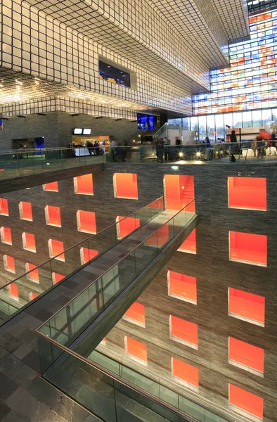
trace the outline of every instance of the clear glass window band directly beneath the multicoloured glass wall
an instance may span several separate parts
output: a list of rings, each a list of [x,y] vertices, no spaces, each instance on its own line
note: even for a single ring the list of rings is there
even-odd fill
[[[209,136],[210,141],[224,138],[228,127],[262,127],[269,120],[277,120],[277,108],[188,117],[188,129],[199,132],[199,141]]]

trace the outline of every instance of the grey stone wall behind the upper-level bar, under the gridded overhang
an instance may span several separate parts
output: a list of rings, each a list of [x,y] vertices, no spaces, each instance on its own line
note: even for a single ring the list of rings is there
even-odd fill
[[[75,127],[91,129],[94,136],[116,136],[134,138],[139,131],[136,122],[118,120],[111,117],[96,119],[88,115],[72,116],[70,113],[47,113],[45,116],[30,115],[24,118],[12,117],[4,120],[0,131],[1,149],[11,149],[12,139],[34,139],[44,137],[45,148],[66,147],[72,142]]]

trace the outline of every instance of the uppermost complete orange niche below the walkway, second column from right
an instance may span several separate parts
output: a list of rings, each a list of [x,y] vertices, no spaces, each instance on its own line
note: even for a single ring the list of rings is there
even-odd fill
[[[167,271],[168,295],[197,305],[196,278],[185,274]]]

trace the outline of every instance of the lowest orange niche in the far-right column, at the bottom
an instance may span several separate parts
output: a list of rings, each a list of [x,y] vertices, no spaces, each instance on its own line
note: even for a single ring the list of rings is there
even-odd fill
[[[229,384],[229,407],[243,416],[262,419],[264,414],[264,399],[252,392]],[[252,418],[251,418],[252,420]]]

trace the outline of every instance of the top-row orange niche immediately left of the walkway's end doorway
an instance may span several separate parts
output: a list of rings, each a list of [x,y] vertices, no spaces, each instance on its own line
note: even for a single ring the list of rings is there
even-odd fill
[[[114,173],[113,191],[115,198],[139,199],[136,173]]]

